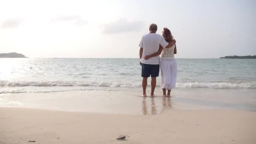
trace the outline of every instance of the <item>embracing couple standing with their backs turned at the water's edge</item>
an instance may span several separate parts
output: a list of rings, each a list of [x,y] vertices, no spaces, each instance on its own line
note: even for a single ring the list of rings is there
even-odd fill
[[[163,96],[171,97],[171,89],[175,87],[177,77],[177,64],[174,59],[176,40],[173,39],[171,31],[166,27],[163,28],[163,36],[156,34],[156,32],[157,25],[151,24],[149,34],[144,35],[139,43],[143,96],[147,96],[147,78],[150,76],[150,96],[154,96],[156,77],[158,77],[159,69],[161,69]],[[166,91],[168,91],[167,95]]]

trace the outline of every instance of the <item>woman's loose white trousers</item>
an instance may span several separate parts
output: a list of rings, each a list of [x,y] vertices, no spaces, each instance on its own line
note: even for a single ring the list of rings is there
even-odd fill
[[[162,84],[161,87],[171,90],[175,88],[177,79],[177,64],[175,59],[162,59],[160,62]]]

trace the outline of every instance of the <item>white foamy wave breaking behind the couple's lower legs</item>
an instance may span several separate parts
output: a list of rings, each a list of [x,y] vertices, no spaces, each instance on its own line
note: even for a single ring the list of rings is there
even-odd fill
[[[138,88],[141,83],[124,82],[93,82],[93,81],[4,81],[0,80],[1,87],[23,87],[23,86],[99,86],[99,87],[121,87]],[[160,84],[157,84],[160,87]],[[256,83],[176,83],[176,88],[256,88]]]

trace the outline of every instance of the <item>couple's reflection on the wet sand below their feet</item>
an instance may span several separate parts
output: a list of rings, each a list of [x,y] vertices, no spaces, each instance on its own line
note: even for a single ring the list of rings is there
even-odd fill
[[[162,98],[162,104],[155,104],[157,98],[142,98],[142,114],[143,115],[155,115],[160,114],[165,109],[171,108],[171,98]],[[159,102],[159,101],[158,101]]]

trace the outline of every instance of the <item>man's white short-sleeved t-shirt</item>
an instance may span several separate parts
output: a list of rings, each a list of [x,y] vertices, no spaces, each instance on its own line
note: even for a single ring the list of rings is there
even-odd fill
[[[140,59],[142,64],[159,64],[159,56],[147,60],[144,59],[145,56],[156,53],[159,49],[159,45],[163,48],[168,45],[162,35],[149,33],[141,38],[139,47],[143,48],[142,58]]]

